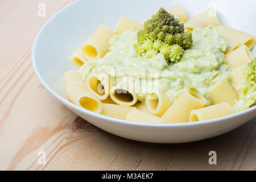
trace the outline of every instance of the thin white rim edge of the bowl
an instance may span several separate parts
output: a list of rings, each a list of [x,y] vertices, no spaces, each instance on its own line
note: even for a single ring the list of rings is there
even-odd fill
[[[56,93],[48,84],[46,84],[46,82],[44,81],[44,79],[40,75],[40,73],[38,71],[38,67],[36,65],[35,49],[36,49],[36,46],[37,46],[38,39],[39,39],[41,33],[44,31],[44,28],[46,28],[48,26],[48,24],[53,19],[56,18],[56,16],[58,16],[63,11],[65,11],[66,9],[68,9],[69,7],[75,5],[76,3],[80,2],[80,1],[81,0],[72,2],[71,4],[67,5],[66,7],[64,7],[63,9],[58,11],[56,14],[54,14],[51,18],[49,18],[47,20],[47,22],[44,23],[43,27],[40,28],[40,30],[39,30],[39,32],[36,35],[36,38],[34,40],[33,46],[32,46],[32,53],[31,53],[32,66],[34,68],[36,77],[38,77],[39,81],[44,86],[44,88],[46,88],[47,91],[52,94],[52,96],[57,98],[64,105],[72,107],[72,109],[78,110],[81,113],[92,115],[95,118],[100,118],[100,119],[108,120],[109,122],[113,122],[113,123],[117,123],[117,124],[122,124],[122,125],[134,125],[134,126],[142,126],[142,127],[145,127],[145,126],[146,127],[191,127],[191,126],[199,126],[199,125],[208,125],[210,123],[217,123],[217,122],[222,122],[222,121],[225,121],[225,120],[228,120],[228,119],[236,118],[239,115],[250,113],[251,111],[256,110],[256,106],[253,106],[253,107],[251,107],[249,109],[243,110],[243,111],[238,112],[238,113],[226,115],[225,117],[210,119],[210,120],[207,120],[207,121],[185,122],[185,123],[143,123],[143,122],[126,121],[124,119],[117,119],[117,118],[108,117],[106,115],[94,113],[93,111],[86,110],[86,109],[84,109],[84,108],[82,108],[80,106],[77,106],[77,105],[73,104],[72,102],[68,101],[64,97],[60,96],[60,94]]]

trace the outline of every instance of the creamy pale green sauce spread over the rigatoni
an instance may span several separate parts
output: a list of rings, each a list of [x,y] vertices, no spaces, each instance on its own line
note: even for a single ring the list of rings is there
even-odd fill
[[[135,93],[142,102],[147,92],[158,89],[174,102],[184,89],[195,88],[207,99],[207,105],[211,105],[207,90],[212,85],[212,80],[217,76],[222,76],[229,82],[231,80],[223,53],[227,47],[226,42],[213,26],[196,29],[192,36],[192,47],[184,51],[179,63],[168,65],[161,53],[151,59],[139,56],[133,47],[137,43],[137,30],[131,29],[122,35],[113,36],[110,51],[101,59],[86,63],[82,77],[85,79],[90,73],[115,73],[119,75],[117,82],[125,82],[130,87],[135,85]],[[130,81],[120,76],[131,74],[142,78]],[[159,77],[158,81],[147,82],[145,78],[156,76]]]

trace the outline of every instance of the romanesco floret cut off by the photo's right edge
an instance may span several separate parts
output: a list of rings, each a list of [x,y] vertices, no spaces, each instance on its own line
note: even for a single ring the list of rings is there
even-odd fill
[[[235,111],[242,111],[248,109],[250,106],[256,104],[256,57],[246,65],[243,71],[245,79],[238,84],[239,100],[234,105]]]

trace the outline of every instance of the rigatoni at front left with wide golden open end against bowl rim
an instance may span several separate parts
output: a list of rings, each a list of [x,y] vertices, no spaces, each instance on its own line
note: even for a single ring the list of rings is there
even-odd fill
[[[68,84],[65,90],[69,101],[73,104],[95,113],[101,113],[101,101],[81,85]]]

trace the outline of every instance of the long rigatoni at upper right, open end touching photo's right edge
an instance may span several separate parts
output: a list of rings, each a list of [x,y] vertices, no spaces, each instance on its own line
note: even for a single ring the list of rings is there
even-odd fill
[[[256,39],[253,35],[235,30],[233,28],[225,27],[223,25],[218,26],[217,30],[221,36],[240,42],[241,44],[247,46],[250,50],[255,46]]]

